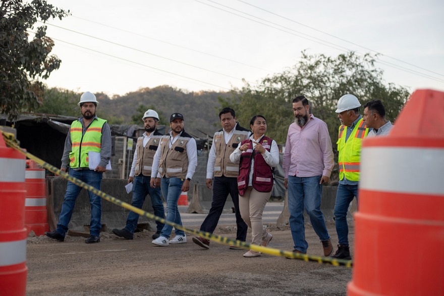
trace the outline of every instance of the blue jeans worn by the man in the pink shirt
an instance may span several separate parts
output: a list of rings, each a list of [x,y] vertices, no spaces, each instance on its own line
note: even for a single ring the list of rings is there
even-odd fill
[[[295,250],[303,253],[307,253],[308,248],[308,243],[305,240],[304,208],[319,239],[322,241],[330,238],[321,211],[322,185],[319,184],[321,177],[288,176],[290,229]]]

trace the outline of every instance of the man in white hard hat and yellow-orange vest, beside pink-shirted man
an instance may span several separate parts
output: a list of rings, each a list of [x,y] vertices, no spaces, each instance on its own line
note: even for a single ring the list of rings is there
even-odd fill
[[[368,128],[359,114],[361,104],[353,94],[341,96],[338,101],[338,118],[343,125],[339,127],[338,164],[339,185],[336,193],[335,224],[338,233],[338,251],[331,257],[351,260],[347,225],[347,211],[356,196],[358,201],[359,164],[362,140],[368,134]]]

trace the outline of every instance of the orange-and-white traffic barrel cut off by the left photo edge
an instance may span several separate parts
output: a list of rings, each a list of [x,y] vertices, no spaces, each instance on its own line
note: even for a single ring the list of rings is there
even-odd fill
[[[25,157],[0,136],[0,294],[25,295]]]

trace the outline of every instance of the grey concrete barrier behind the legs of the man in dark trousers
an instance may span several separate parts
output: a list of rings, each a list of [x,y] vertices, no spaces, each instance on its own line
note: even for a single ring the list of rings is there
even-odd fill
[[[190,191],[188,191],[190,192]],[[188,193],[189,194],[189,193]],[[193,185],[193,193],[190,206],[187,209],[188,213],[208,214],[211,209],[211,202],[213,201],[213,191],[208,189],[204,183],[195,183]],[[227,202],[224,206],[223,213],[233,213],[233,200],[229,194]]]

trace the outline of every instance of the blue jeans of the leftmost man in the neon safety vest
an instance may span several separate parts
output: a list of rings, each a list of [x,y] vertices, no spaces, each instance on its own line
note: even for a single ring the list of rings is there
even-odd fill
[[[102,174],[93,170],[85,169],[85,170],[69,170],[69,175],[71,177],[77,178],[88,185],[93,186],[100,190],[100,185],[102,183]],[[57,232],[66,235],[68,231],[68,224],[71,221],[71,216],[73,214],[74,206],[76,204],[77,197],[79,196],[82,187],[77,186],[71,181],[68,181],[68,185],[66,187],[65,200],[62,204],[62,211],[60,212],[59,224],[57,224]],[[102,215],[102,200],[100,196],[88,191],[89,195],[89,203],[91,204],[91,222],[89,232],[91,235],[99,236],[100,229],[102,228],[101,224],[101,215]]]

